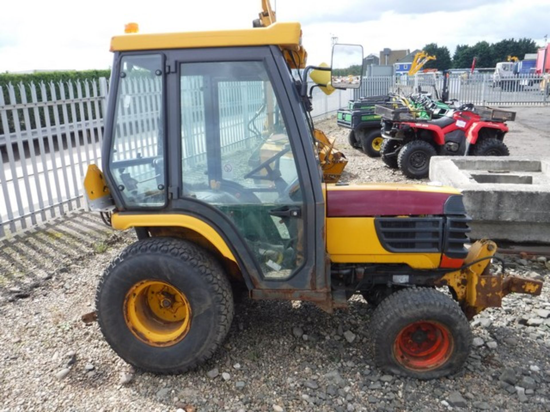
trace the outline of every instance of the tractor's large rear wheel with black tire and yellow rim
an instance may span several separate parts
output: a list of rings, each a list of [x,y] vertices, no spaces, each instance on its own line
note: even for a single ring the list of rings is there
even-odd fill
[[[97,287],[96,310],[111,348],[136,368],[160,374],[212,357],[234,313],[218,261],[170,237],[140,240],[114,258]]]

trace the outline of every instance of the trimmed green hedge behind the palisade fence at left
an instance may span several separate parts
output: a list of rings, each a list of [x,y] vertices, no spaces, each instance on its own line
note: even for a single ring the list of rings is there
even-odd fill
[[[15,92],[15,100],[18,103],[21,103],[21,93],[19,84],[23,83],[25,86],[25,92],[27,96],[27,102],[31,101],[31,91],[30,91],[30,84],[31,82],[35,84],[36,86],[36,92],[37,92],[37,98],[38,101],[42,100],[41,92],[40,92],[40,83],[45,83],[46,85],[46,96],[48,101],[52,98],[51,96],[51,88],[50,83],[54,83],[54,88],[56,91],[56,96],[58,99],[61,98],[61,93],[59,89],[59,82],[68,82],[71,81],[73,83],[73,92],[74,96],[78,96],[77,89],[76,89],[76,81],[86,81],[86,80],[97,80],[100,77],[106,77],[107,79],[111,76],[111,70],[84,70],[84,71],[50,71],[50,72],[41,72],[41,73],[32,73],[32,74],[12,74],[12,73],[2,73],[0,74],[0,87],[2,87],[2,93],[4,95],[4,102],[6,104],[10,104],[9,100],[9,94],[8,94],[8,84],[12,83],[14,86],[14,92]],[[97,85],[99,87],[99,85]],[[91,87],[90,87],[91,89]],[[65,98],[69,98],[69,88],[68,85],[64,84],[64,90],[65,90]],[[84,85],[82,86],[82,91],[84,94]],[[90,90],[91,92],[91,90]],[[39,109],[40,114],[40,120],[41,125],[45,125],[45,115],[44,115],[45,108]],[[52,106],[47,108],[48,112],[50,113],[50,118],[53,123],[54,120],[54,108]],[[92,117],[96,117],[96,110],[95,105],[91,105],[92,110]],[[10,132],[13,132],[15,130],[14,127],[14,116],[12,110],[9,110],[7,113],[7,120],[8,120],[8,129]],[[25,129],[24,125],[24,116],[23,116],[23,110],[18,110],[19,114],[19,125],[20,128],[23,130]],[[60,119],[62,119],[62,109],[61,107],[58,108],[58,115],[60,116]],[[34,129],[36,127],[36,119],[35,114],[33,110],[29,110],[29,118],[30,118],[30,129]],[[84,113],[80,113],[78,110],[76,112],[76,119],[73,119],[72,112],[70,110],[68,111],[68,119],[63,119],[61,121],[80,121],[80,120],[87,120],[89,118],[89,113],[87,110],[84,111]],[[2,124],[2,121],[0,121],[0,135],[4,133],[4,127]]]

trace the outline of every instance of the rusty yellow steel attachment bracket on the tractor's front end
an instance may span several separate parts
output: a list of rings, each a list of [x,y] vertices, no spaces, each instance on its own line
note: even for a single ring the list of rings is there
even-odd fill
[[[502,298],[509,293],[527,293],[538,296],[542,282],[520,276],[505,276],[504,273],[491,274],[489,263],[497,245],[490,240],[480,240],[472,244],[461,270],[445,274],[436,286],[448,286],[455,294],[466,317],[473,318],[486,308],[497,308]]]

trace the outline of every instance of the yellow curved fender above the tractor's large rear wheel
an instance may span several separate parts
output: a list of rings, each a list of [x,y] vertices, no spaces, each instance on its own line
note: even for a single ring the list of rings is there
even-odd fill
[[[237,259],[227,246],[227,243],[219,233],[206,222],[195,218],[194,216],[184,214],[120,214],[113,213],[111,224],[114,229],[125,230],[130,227],[146,226],[179,226],[193,230],[199,235],[204,236],[208,242],[218,249],[224,257],[233,260],[236,264]]]

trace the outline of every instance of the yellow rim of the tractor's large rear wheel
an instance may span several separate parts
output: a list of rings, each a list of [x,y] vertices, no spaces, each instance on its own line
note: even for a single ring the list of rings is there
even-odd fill
[[[189,332],[191,306],[185,295],[169,283],[144,280],[126,294],[124,320],[141,342],[172,346]]]

